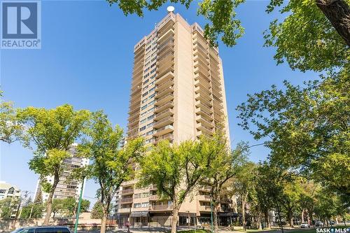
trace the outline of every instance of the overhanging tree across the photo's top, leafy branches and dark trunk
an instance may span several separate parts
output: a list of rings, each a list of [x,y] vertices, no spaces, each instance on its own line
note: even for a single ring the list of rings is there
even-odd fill
[[[193,0],[174,0],[189,8]],[[167,3],[160,1],[107,0],[118,4],[125,15],[144,10],[158,10]],[[244,28],[237,19],[236,8],[245,0],[202,0],[197,15],[202,15],[209,24],[204,35],[211,45],[218,44],[218,38],[225,45],[232,46],[244,34]],[[288,62],[292,69],[322,71],[337,69],[349,59],[346,50],[350,46],[349,0],[270,0],[267,13],[281,6],[282,20],[271,22],[265,31],[265,45],[276,47],[274,58],[277,63]],[[286,17],[284,16],[286,15]]]

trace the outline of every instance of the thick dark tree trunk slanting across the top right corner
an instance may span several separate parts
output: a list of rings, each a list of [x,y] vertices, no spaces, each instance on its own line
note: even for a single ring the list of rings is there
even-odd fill
[[[328,18],[337,33],[350,46],[350,8],[344,0],[316,0],[316,5]]]

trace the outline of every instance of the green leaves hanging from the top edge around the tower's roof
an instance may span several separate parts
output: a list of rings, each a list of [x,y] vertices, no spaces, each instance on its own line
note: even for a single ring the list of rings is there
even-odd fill
[[[111,5],[118,4],[125,15],[136,13],[144,16],[144,9],[158,10],[160,6],[167,3],[167,0],[107,0]],[[174,3],[181,3],[190,7],[193,0],[172,0]],[[203,0],[198,4],[197,15],[202,15],[206,20],[211,22],[204,27],[204,36],[209,39],[211,45],[218,45],[218,38],[225,45],[233,46],[237,39],[244,34],[244,28],[241,27],[241,21],[236,18],[235,8],[244,0]]]

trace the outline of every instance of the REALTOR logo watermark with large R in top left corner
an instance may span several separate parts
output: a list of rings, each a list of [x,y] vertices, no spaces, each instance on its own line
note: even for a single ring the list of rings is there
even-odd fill
[[[1,1],[1,48],[41,48],[41,1]]]

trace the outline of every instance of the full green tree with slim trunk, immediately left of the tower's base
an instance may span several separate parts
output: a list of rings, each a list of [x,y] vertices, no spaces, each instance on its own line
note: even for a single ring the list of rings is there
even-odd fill
[[[123,129],[119,126],[113,128],[102,111],[92,113],[86,135],[87,138],[78,146],[78,151],[91,161],[85,171],[86,177],[99,184],[97,196],[103,207],[101,233],[104,233],[112,198],[121,183],[132,178],[132,163],[144,153],[144,140],[128,141],[121,148]]]

